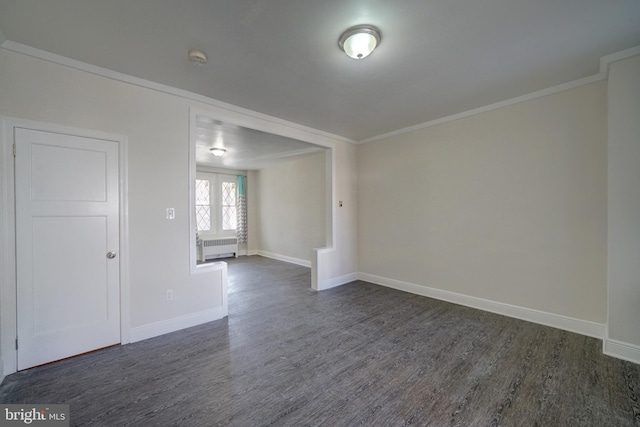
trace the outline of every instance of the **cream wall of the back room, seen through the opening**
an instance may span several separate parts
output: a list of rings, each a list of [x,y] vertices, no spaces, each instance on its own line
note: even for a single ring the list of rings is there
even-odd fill
[[[288,160],[257,172],[260,251],[311,265],[326,246],[326,155]]]

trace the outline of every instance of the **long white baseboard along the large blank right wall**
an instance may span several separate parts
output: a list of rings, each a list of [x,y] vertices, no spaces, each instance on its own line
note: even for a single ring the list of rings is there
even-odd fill
[[[469,295],[444,291],[442,289],[430,288],[427,286],[416,285],[414,283],[402,282],[386,277],[375,276],[373,274],[358,273],[358,279],[375,283],[376,285],[382,285],[400,291],[410,292],[416,295],[422,295],[425,297],[439,299],[454,304],[477,308],[479,310],[489,311],[491,313],[501,314],[503,316],[513,317],[520,320],[526,320],[528,322],[538,323],[540,325],[551,326],[553,328],[563,329],[565,331],[575,332],[577,334],[586,335],[593,338],[603,339],[605,335],[605,325],[602,323],[580,320],[572,317],[561,316],[558,314],[547,313],[540,310],[534,310],[531,308],[472,297]]]

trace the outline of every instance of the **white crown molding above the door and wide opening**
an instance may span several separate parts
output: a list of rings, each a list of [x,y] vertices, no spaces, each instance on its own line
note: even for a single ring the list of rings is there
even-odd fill
[[[150,80],[142,79],[139,77],[130,76],[125,73],[121,73],[118,71],[109,70],[107,68],[99,67],[96,65],[88,64],[86,62],[77,61],[75,59],[67,58],[66,56],[57,55],[51,52],[47,52],[41,49],[36,49],[31,46],[27,46],[21,43],[16,43],[11,40],[6,40],[3,38],[2,33],[0,33],[0,47],[15,53],[20,53],[26,56],[31,56],[33,58],[38,58],[47,62],[52,62],[54,64],[62,65],[65,67],[73,68],[76,70],[84,71],[90,74],[94,74],[97,76],[105,77],[111,80],[116,80],[119,82],[131,84],[134,86],[139,86],[146,89],[155,90],[158,92],[166,93],[169,95],[174,95],[180,98],[188,99],[190,101],[201,102],[203,104],[210,105],[212,107],[216,107],[222,110],[225,110],[229,113],[241,114],[243,116],[249,117],[251,119],[256,119],[260,121],[267,122],[268,124],[276,125],[278,127],[285,127],[291,130],[292,132],[287,132],[291,136],[296,139],[304,139],[306,142],[314,142],[312,140],[317,139],[318,137],[322,140],[338,140],[342,142],[347,142],[350,144],[355,144],[356,141],[353,139],[346,138],[344,136],[335,135],[329,132],[325,132],[319,129],[311,128],[308,126],[304,126],[295,122],[290,122],[288,120],[279,119],[274,116],[270,116],[264,113],[259,113],[257,111],[249,110],[246,108],[239,107],[237,105],[233,105],[224,101],[217,100],[215,98],[210,98],[208,96],[200,95],[194,92],[190,92],[183,89],[178,89],[172,86],[164,85],[161,83],[152,82]],[[224,119],[224,117],[222,117]],[[236,120],[237,123],[237,120]],[[252,127],[249,125],[249,127]],[[269,126],[267,126],[269,127]],[[262,130],[262,129],[260,129]],[[276,133],[271,131],[272,133]],[[302,134],[306,134],[312,136],[312,138],[303,138]],[[284,135],[289,136],[289,135]],[[312,139],[312,140],[310,140]]]

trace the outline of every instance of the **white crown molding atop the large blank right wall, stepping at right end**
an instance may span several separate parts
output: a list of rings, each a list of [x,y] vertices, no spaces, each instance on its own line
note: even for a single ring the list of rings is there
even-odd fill
[[[497,110],[498,108],[508,107],[510,105],[519,104],[521,102],[530,101],[532,99],[540,98],[547,95],[552,95],[554,93],[563,92],[565,90],[573,89],[579,86],[595,83],[601,80],[606,80],[609,76],[609,66],[616,61],[621,61],[623,59],[630,58],[632,56],[640,55],[640,46],[633,47],[631,49],[626,49],[620,52],[612,53],[610,55],[606,55],[600,58],[600,70],[597,74],[589,77],[584,77],[578,80],[573,80],[571,82],[562,83],[556,86],[552,86],[546,89],[541,89],[535,92],[531,92],[522,96],[518,96],[515,98],[507,99],[504,101],[499,101],[494,104],[485,105],[484,107],[474,108],[473,110],[464,111],[462,113],[453,114],[451,116],[442,117],[440,119],[430,120],[428,122],[420,123],[414,126],[409,126],[406,128],[398,129],[392,132],[383,133],[380,135],[372,136],[370,138],[366,138],[360,141],[357,141],[356,144],[365,144],[367,142],[378,141],[385,138],[390,138],[393,136],[401,135],[403,133],[413,132],[419,129],[428,128],[431,126],[436,126],[442,123],[452,122],[454,120],[463,119],[465,117],[475,116],[476,114],[486,113],[488,111]]]

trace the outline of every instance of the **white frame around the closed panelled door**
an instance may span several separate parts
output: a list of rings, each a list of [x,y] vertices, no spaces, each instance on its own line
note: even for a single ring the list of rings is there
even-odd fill
[[[16,221],[14,129],[25,128],[79,137],[105,139],[118,144],[118,191],[120,202],[120,343],[130,342],[129,322],[129,218],[128,141],[124,135],[0,116],[0,381],[18,368],[16,296]]]

